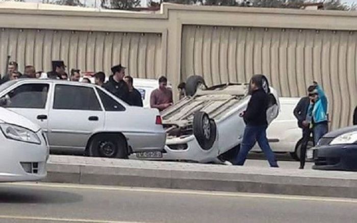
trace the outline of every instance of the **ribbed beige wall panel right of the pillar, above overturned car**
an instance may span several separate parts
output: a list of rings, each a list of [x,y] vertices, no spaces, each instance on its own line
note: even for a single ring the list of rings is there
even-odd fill
[[[301,97],[313,80],[329,101],[331,127],[352,123],[357,95],[357,33],[184,25],[181,78],[208,85],[266,74],[283,97]]]

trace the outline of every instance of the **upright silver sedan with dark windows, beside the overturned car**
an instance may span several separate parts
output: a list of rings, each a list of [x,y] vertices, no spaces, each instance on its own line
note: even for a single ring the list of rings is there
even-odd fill
[[[130,106],[89,83],[11,80],[0,86],[0,104],[40,125],[52,152],[126,158],[165,146],[157,109]]]

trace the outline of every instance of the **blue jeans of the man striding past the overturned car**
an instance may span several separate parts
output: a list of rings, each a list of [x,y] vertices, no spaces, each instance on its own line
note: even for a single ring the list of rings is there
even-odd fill
[[[258,141],[259,147],[267,157],[271,167],[278,167],[275,155],[268,143],[267,139],[267,126],[246,126],[244,129],[243,141],[239,150],[238,156],[233,161],[234,165],[244,165],[249,151],[253,148],[254,144]]]

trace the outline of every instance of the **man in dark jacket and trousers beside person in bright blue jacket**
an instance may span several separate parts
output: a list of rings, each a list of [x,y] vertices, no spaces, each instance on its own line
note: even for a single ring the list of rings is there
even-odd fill
[[[310,86],[308,88],[309,95],[315,91],[315,86]],[[305,166],[306,149],[312,134],[312,129],[310,128],[309,118],[307,118],[308,108],[311,99],[309,96],[303,97],[297,103],[294,109],[294,116],[297,119],[297,125],[302,129],[302,140],[301,140],[301,150],[300,150],[300,168],[303,169]]]

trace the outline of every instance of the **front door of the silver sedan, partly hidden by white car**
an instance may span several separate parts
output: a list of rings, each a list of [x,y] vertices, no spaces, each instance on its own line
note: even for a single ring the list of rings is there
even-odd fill
[[[6,108],[37,123],[46,132],[51,87],[49,83],[23,83],[9,89],[2,98],[8,98]]]

